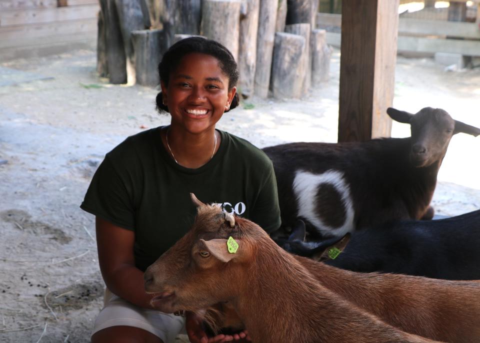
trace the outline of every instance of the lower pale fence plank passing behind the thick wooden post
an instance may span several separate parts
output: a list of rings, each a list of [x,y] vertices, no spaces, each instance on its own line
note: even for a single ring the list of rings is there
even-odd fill
[[[339,47],[340,40],[340,33],[326,33],[328,44]],[[475,40],[399,36],[398,51],[450,52],[466,56],[480,56],[480,42]]]

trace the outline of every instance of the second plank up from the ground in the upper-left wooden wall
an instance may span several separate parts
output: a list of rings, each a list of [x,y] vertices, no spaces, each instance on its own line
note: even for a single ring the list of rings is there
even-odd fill
[[[71,21],[57,21],[22,26],[0,27],[0,47],[9,46],[9,40],[22,39],[23,37],[37,38],[72,33],[84,33],[96,29],[96,19],[81,19]]]

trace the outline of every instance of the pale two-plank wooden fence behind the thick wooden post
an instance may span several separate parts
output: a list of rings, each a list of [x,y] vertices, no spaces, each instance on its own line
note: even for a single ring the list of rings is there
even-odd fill
[[[318,27],[341,27],[341,14],[318,13],[316,24]],[[329,44],[340,46],[340,33],[327,32],[326,39]],[[480,29],[471,22],[400,18],[398,51],[480,56]]]

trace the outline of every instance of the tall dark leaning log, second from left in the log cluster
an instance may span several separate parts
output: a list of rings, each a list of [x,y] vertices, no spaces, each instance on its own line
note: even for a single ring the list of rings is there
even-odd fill
[[[100,0],[105,23],[106,60],[110,83],[126,83],[126,57],[114,1]]]

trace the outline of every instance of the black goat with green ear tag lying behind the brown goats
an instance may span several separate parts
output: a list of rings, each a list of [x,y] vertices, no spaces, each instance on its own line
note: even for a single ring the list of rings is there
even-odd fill
[[[480,279],[480,210],[446,219],[400,220],[354,231],[346,247],[339,241],[342,246],[338,250],[334,249],[338,238],[303,242],[305,228],[301,221],[293,231],[289,240],[277,243],[289,252],[326,260],[338,268],[450,280]],[[328,259],[329,251],[338,253],[342,249],[334,259]]]

